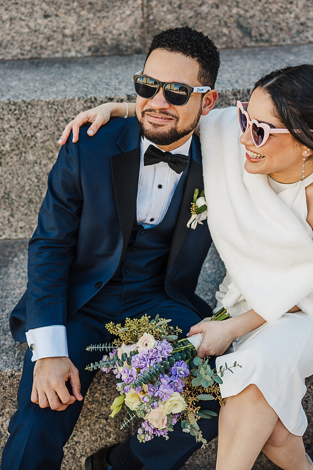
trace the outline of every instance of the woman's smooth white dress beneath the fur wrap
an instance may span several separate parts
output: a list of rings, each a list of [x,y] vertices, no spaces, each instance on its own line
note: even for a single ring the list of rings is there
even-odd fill
[[[270,187],[313,239],[313,230],[306,222],[305,198],[305,187],[312,182],[313,174],[303,182],[292,184],[277,183],[268,177]],[[234,317],[250,310],[228,273],[216,299],[214,312],[224,306]],[[305,377],[313,375],[313,317],[302,312],[285,313],[278,320],[264,323],[251,333],[236,338],[227,352],[216,359],[217,369],[225,366],[225,362],[231,366],[235,361],[242,368],[236,368],[234,374],[226,371],[220,385],[221,396],[237,395],[249,384],[255,384],[284,426],[292,434],[302,436],[307,427],[301,404],[306,392]]]

